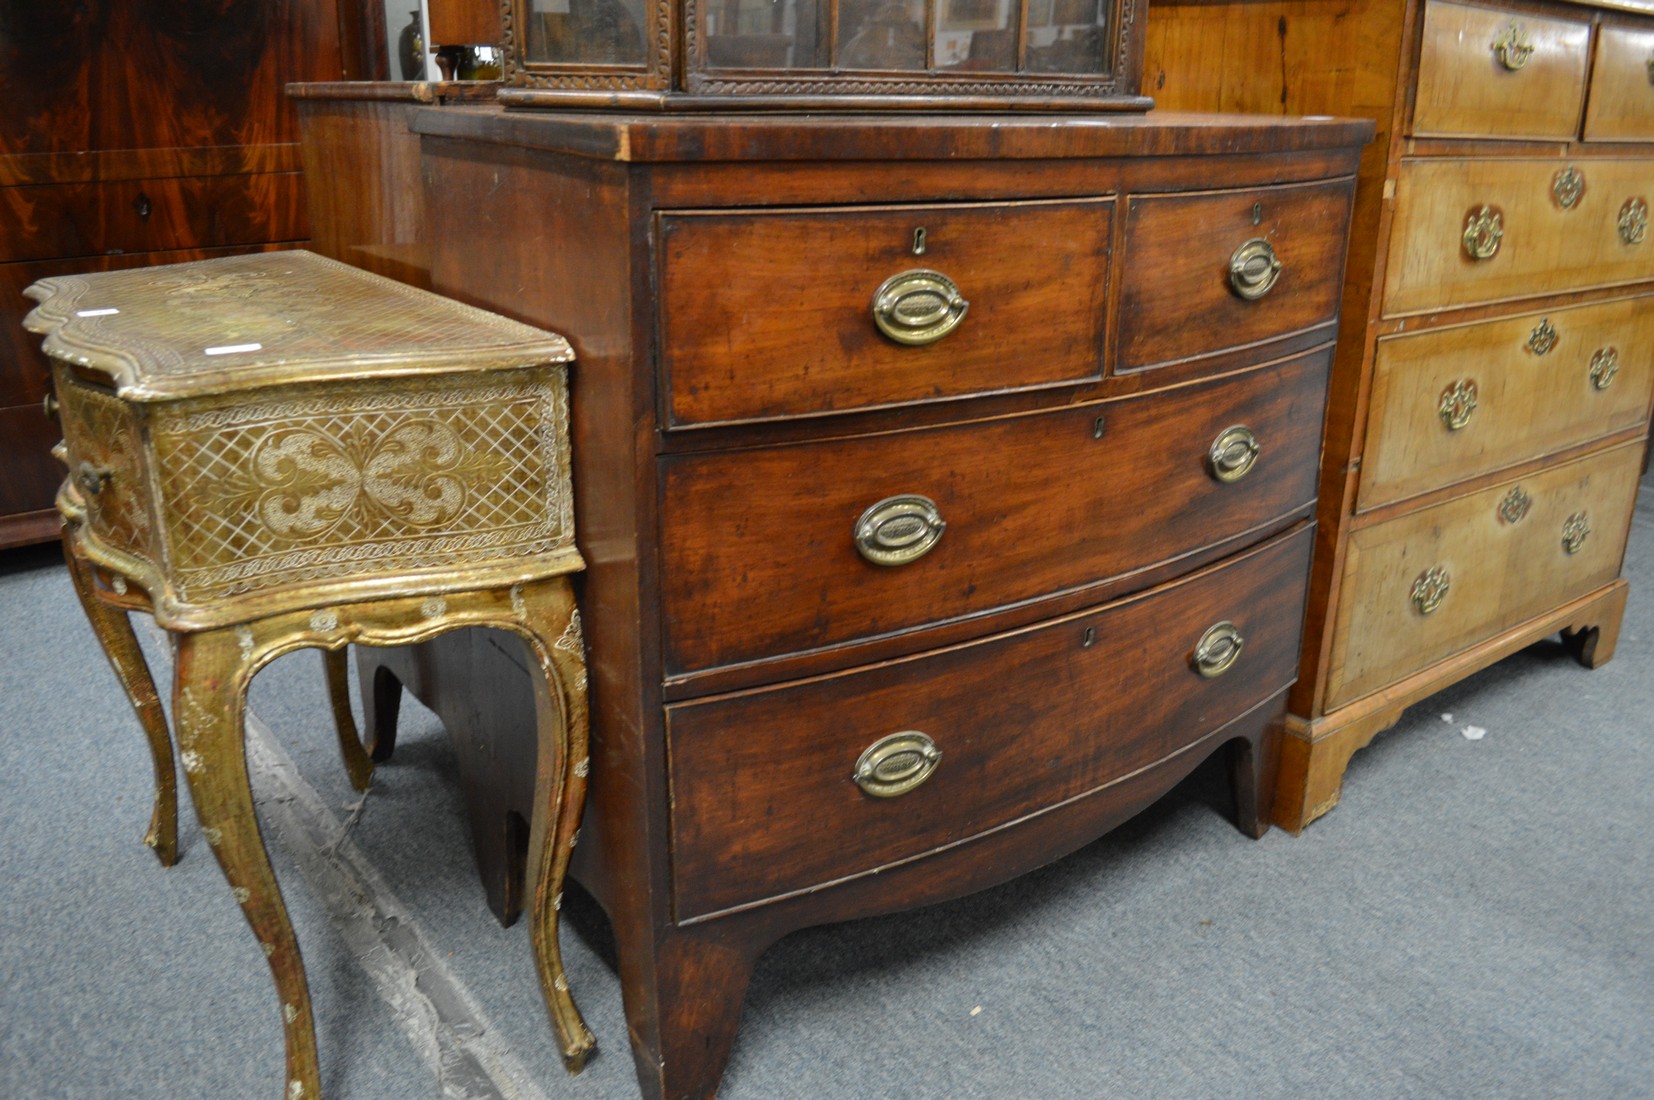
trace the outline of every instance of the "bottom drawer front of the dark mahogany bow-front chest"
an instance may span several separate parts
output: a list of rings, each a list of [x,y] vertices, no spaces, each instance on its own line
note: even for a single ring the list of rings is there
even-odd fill
[[[676,918],[870,873],[1176,754],[1297,675],[1310,546],[1298,528],[1040,627],[667,708]],[[1219,622],[1240,655],[1204,678],[1193,653]],[[863,749],[901,731],[935,741],[935,772],[863,794]]]

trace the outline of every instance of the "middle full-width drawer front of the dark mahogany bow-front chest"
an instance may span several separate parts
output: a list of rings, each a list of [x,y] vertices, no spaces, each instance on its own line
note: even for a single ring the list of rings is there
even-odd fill
[[[1279,521],[1315,500],[1327,361],[997,420],[668,458],[668,675],[1082,589]],[[1209,450],[1234,425],[1262,452],[1222,483]],[[865,561],[858,518],[903,495],[935,501],[939,541],[908,564]]]

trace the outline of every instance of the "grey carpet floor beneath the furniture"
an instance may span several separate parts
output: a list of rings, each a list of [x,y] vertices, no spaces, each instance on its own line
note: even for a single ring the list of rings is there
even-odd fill
[[[1414,706],[1302,837],[1244,839],[1202,768],[1014,883],[797,933],[759,963],[719,1095],[1654,1095],[1651,500],[1604,668],[1545,642]],[[139,842],[144,741],[51,548],[0,554],[0,1098],[280,1097],[263,958],[187,799],[177,867]],[[600,1044],[567,1077],[437,721],[405,715],[357,806],[316,653],[251,708],[327,1095],[635,1097],[602,916],[566,908]]]

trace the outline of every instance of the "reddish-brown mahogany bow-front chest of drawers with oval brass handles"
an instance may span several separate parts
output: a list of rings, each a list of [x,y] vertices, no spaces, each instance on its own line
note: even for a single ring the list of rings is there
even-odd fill
[[[1011,878],[1226,746],[1267,827],[1366,124],[414,127],[432,288],[582,362],[572,873],[647,1095],[713,1093],[787,931]]]

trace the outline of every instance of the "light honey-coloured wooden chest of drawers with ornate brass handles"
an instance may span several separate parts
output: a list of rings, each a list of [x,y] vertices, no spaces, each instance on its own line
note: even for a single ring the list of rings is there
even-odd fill
[[[1146,63],[1163,104],[1379,127],[1277,796],[1298,829],[1404,706],[1558,630],[1613,655],[1654,394],[1654,5],[1173,0]]]

